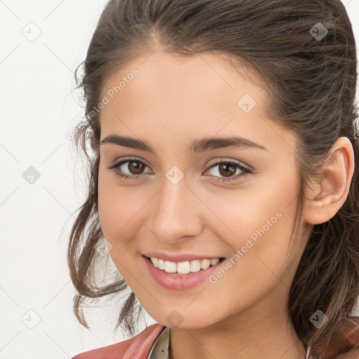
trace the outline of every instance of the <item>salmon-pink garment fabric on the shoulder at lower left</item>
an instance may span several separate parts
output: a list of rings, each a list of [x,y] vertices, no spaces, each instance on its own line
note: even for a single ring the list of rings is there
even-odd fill
[[[163,329],[165,329],[164,325],[156,323],[145,328],[135,337],[80,353],[72,359],[132,359],[134,356],[138,359],[146,359],[154,341]]]

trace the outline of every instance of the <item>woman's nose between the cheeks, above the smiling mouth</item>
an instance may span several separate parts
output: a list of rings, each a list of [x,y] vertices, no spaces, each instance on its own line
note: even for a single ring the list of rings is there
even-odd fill
[[[178,243],[198,236],[203,228],[203,207],[185,178],[177,184],[165,178],[163,188],[154,199],[151,232],[158,241],[165,243]]]

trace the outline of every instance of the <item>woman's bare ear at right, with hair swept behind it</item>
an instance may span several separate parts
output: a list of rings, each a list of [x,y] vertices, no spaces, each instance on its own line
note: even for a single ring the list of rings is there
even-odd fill
[[[338,212],[348,196],[354,172],[354,151],[348,137],[339,137],[323,163],[319,182],[313,185],[304,203],[303,221],[322,224]]]

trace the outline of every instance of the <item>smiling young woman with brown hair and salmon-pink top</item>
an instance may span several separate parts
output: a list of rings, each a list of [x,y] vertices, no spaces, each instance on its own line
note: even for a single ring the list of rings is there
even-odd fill
[[[74,358],[359,358],[344,5],[111,0],[83,64],[74,311],[88,327],[86,299],[129,287],[132,337]],[[118,273],[99,285],[103,243]],[[157,322],[140,333],[137,308]]]

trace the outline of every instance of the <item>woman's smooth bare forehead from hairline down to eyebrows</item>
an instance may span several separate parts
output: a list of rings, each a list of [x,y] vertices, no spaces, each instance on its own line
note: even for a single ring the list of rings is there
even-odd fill
[[[238,135],[264,146],[280,140],[275,137],[284,128],[268,125],[264,81],[239,62],[233,67],[228,59],[157,50],[128,63],[102,89],[109,100],[100,115],[102,138],[126,133],[151,140],[162,133],[161,140],[170,144]]]

